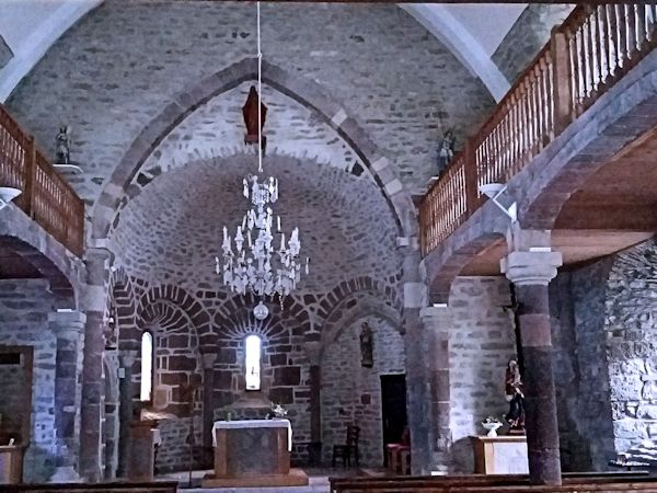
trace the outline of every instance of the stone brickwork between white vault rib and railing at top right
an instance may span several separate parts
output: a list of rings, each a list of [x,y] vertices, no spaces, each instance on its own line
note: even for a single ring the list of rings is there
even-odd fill
[[[574,5],[530,3],[504,37],[493,61],[511,83],[550,41],[552,27],[561,25]]]

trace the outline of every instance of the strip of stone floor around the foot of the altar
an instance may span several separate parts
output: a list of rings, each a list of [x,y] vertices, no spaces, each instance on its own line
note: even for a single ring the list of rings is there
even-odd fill
[[[200,480],[204,475],[211,471],[193,471],[192,488],[189,488],[188,472],[174,472],[158,477],[158,479],[177,480],[181,491],[186,493],[328,493],[330,477],[349,477],[362,475],[360,469],[342,469],[342,468],[304,468],[303,471],[308,474],[308,486],[285,486],[285,488],[200,488]]]

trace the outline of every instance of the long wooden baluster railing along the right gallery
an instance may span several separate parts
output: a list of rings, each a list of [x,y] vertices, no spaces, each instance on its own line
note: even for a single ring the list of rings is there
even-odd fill
[[[579,5],[419,206],[423,255],[484,203],[657,46],[657,3]]]

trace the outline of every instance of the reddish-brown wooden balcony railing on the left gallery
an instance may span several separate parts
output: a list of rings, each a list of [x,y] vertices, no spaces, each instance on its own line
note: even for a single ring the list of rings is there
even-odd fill
[[[0,186],[20,188],[15,204],[78,256],[84,241],[84,203],[0,105]]]

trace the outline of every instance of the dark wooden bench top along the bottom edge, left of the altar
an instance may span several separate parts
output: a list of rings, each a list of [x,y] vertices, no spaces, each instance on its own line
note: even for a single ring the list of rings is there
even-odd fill
[[[177,481],[112,482],[90,484],[0,484],[0,493],[176,493],[177,486]]]

